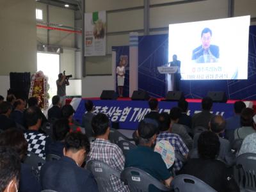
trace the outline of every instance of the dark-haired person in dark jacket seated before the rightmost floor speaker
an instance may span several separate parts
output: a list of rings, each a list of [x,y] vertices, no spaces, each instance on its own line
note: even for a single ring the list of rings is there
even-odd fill
[[[204,97],[202,99],[202,112],[196,113],[192,117],[192,129],[195,127],[205,127],[209,129],[209,122],[212,116],[214,116],[210,111],[212,108],[212,99],[210,97]]]

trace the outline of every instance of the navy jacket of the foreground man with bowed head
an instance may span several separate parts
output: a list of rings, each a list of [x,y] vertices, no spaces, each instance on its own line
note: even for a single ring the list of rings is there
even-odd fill
[[[70,157],[49,161],[42,166],[40,182],[43,189],[60,192],[97,192],[97,182],[88,170],[77,166]]]

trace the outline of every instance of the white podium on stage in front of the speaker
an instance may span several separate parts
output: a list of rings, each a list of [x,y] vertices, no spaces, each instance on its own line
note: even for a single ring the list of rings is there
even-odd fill
[[[177,66],[162,66],[157,67],[159,74],[165,74],[166,76],[166,92],[173,91],[175,85],[175,74],[180,74],[179,67]]]

